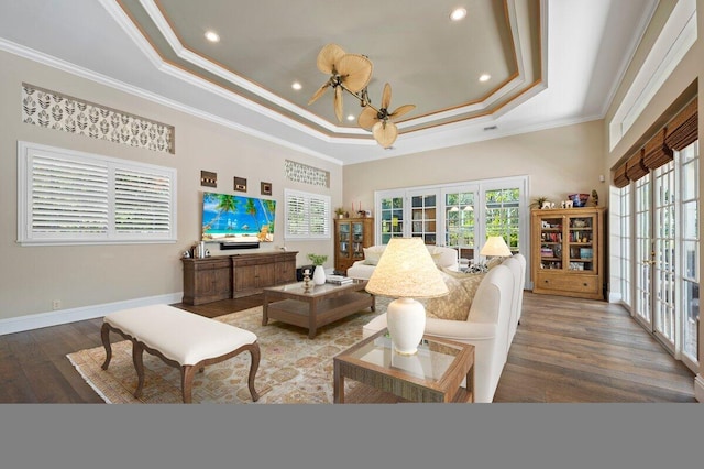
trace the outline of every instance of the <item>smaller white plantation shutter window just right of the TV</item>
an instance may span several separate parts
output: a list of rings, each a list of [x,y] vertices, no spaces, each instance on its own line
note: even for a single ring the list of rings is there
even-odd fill
[[[329,239],[329,196],[285,189],[285,239]]]

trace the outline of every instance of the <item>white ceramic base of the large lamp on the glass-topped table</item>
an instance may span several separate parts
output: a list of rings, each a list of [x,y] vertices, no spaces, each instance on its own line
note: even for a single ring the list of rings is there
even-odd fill
[[[398,298],[386,308],[386,327],[398,353],[414,355],[426,330],[426,308],[414,298]]]

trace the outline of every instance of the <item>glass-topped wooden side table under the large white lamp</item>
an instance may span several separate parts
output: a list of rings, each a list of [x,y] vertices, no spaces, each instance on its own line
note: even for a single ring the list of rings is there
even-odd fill
[[[474,402],[474,346],[424,336],[418,352],[394,351],[387,329],[333,358],[334,402]],[[466,388],[462,381],[466,378]]]

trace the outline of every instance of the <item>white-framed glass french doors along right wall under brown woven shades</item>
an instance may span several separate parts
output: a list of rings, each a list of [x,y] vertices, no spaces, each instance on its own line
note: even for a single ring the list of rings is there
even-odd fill
[[[675,358],[697,367],[698,144],[636,181],[631,314]]]

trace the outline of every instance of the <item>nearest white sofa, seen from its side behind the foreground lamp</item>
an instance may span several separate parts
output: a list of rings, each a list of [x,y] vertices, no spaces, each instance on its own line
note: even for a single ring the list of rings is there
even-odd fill
[[[475,347],[474,350],[474,402],[492,402],[498,385],[516,325],[520,317],[515,308],[522,305],[514,296],[522,297],[522,284],[515,285],[519,272],[512,264],[520,260],[508,258],[491,269],[482,279],[472,298],[466,320],[426,318],[426,334],[448,338]],[[514,265],[515,266],[515,265]],[[519,275],[520,276],[520,275]],[[525,268],[524,268],[525,276]],[[386,327],[386,314],[366,324],[362,334],[369,337]]]

